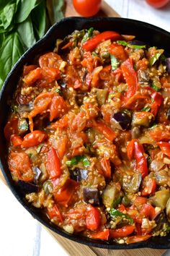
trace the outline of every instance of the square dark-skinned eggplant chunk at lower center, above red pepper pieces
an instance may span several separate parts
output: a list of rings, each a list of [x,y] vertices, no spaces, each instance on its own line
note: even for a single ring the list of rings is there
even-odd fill
[[[99,190],[96,187],[83,187],[84,202],[99,205]]]

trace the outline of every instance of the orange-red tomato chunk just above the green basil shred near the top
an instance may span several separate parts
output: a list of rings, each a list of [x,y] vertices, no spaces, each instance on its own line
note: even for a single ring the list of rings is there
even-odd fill
[[[125,48],[116,43],[112,43],[111,46],[109,46],[109,53],[121,61],[125,61],[128,58]]]

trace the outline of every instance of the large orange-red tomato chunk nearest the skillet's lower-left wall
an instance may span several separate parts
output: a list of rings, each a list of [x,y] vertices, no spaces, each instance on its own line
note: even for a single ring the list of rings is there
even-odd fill
[[[34,179],[34,172],[31,168],[30,158],[24,152],[21,153],[9,153],[9,170],[24,182],[32,182]]]

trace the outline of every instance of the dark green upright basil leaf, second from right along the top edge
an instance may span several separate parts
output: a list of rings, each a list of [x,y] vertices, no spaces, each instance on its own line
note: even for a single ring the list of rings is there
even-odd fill
[[[32,10],[31,19],[35,31],[35,37],[39,40],[43,35],[45,35],[47,30],[45,1],[41,1],[41,3]]]

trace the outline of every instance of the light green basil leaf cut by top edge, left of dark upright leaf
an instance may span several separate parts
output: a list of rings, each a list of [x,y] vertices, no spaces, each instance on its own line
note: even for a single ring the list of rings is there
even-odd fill
[[[37,7],[43,0],[21,0],[19,1],[15,22],[20,23],[27,19],[32,12],[32,9]]]

